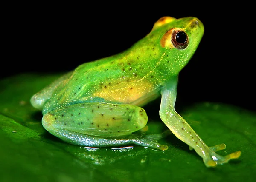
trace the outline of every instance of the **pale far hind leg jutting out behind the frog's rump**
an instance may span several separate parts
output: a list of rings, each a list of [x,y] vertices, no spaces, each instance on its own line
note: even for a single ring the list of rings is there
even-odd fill
[[[64,74],[62,77],[60,77],[57,80],[55,80],[54,82],[52,82],[46,88],[44,88],[43,90],[41,90],[38,93],[36,93],[35,95],[33,95],[30,99],[30,102],[33,105],[33,107],[42,110],[44,103],[49,98],[52,97],[52,94],[55,91],[55,89],[58,87],[58,85],[60,85],[61,82],[63,82],[64,80],[68,79],[72,73],[73,73],[73,71],[69,72],[67,74]]]

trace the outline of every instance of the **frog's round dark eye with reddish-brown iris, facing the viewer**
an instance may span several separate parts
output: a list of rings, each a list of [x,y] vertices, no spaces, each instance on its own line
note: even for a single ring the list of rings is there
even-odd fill
[[[177,49],[185,49],[189,45],[188,35],[181,30],[174,30],[171,37],[172,45]]]

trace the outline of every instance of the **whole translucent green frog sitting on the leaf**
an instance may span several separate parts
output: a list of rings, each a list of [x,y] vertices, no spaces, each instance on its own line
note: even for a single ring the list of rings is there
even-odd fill
[[[43,112],[51,134],[90,147],[137,144],[167,150],[146,136],[132,134],[147,123],[141,106],[162,97],[160,118],[173,134],[195,149],[207,167],[238,158],[220,156],[224,144],[208,147],[174,109],[177,78],[204,34],[195,17],[162,17],[152,31],[128,50],[65,74],[31,98]]]

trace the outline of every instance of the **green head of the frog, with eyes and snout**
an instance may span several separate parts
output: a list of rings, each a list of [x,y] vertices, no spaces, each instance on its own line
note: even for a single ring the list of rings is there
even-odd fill
[[[158,39],[163,69],[168,65],[169,73],[177,75],[195,53],[204,34],[204,25],[195,17],[163,17],[154,24],[150,34]]]

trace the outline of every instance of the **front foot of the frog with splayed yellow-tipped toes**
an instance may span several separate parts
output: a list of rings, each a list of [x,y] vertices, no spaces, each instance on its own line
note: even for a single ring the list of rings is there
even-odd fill
[[[215,167],[216,165],[222,165],[224,163],[227,163],[230,159],[237,159],[241,155],[241,151],[236,151],[231,154],[228,154],[226,156],[221,156],[219,154],[216,154],[216,151],[220,151],[226,148],[226,145],[224,143],[220,145],[215,145],[213,147],[209,147],[209,151],[205,151],[204,154],[204,164],[207,167]]]

